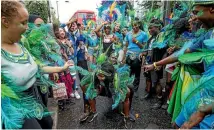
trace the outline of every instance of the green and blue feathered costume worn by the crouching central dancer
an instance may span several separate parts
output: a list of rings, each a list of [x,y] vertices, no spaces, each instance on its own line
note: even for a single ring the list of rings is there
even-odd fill
[[[112,109],[115,109],[120,102],[124,102],[128,92],[128,85],[133,83],[134,76],[130,77],[130,68],[128,66],[123,66],[115,70],[114,66],[108,61],[97,65],[93,72],[89,72],[89,74],[81,80],[81,86],[87,86],[85,93],[87,99],[94,99],[98,96],[96,88],[99,81],[96,75],[99,73],[106,77],[104,87],[110,91],[110,95],[114,100]],[[109,95],[107,94],[106,96]]]

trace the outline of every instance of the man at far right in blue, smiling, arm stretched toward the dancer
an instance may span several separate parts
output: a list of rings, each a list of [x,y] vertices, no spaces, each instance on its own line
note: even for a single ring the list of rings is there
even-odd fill
[[[203,12],[198,14],[198,12]],[[157,66],[180,61],[182,64],[178,67],[174,74],[177,75],[176,87],[174,87],[168,112],[172,114],[172,122],[180,127],[190,115],[197,111],[198,102],[200,99],[211,97],[213,98],[212,84],[213,84],[213,23],[209,21],[214,20],[213,1],[197,1],[193,6],[193,13],[195,15],[194,20],[199,20],[203,23],[203,27],[207,30],[206,33],[202,33],[199,38],[192,40],[189,46],[184,46],[180,53],[171,55],[161,61],[153,63],[153,65],[146,65],[144,68],[146,71],[154,69]],[[182,52],[189,53],[184,54]],[[206,53],[205,53],[206,51]],[[197,55],[198,58],[193,58]],[[200,62],[199,62],[200,61]],[[185,65],[204,63],[204,73],[201,78],[192,78],[188,84],[183,84],[180,76],[185,73],[192,73],[193,75],[200,74],[200,71],[196,71],[193,68],[185,68]],[[183,66],[183,67],[182,67]],[[179,69],[181,68],[181,69]],[[185,73],[184,73],[185,72]],[[178,76],[178,74],[180,76]],[[187,76],[187,75],[186,75]],[[190,77],[191,78],[191,77]],[[184,79],[185,80],[185,79]],[[205,84],[208,83],[209,85]],[[185,91],[185,90],[186,91]],[[206,94],[201,94],[206,93]],[[175,100],[176,99],[176,100]],[[182,110],[181,110],[182,109]],[[187,110],[187,111],[185,111]],[[185,111],[185,112],[184,112]],[[206,121],[205,119],[203,121]],[[202,122],[203,122],[202,121]],[[202,128],[199,126],[199,128]],[[206,127],[206,128],[210,128]]]

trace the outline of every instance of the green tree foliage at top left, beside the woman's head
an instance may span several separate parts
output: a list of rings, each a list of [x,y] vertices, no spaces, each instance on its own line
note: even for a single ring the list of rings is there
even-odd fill
[[[47,5],[47,0],[27,0],[24,3],[29,14],[39,15],[45,23],[48,22],[49,7]]]

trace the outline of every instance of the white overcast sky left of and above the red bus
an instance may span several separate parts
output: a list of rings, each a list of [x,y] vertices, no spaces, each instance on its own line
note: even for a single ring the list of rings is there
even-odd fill
[[[55,9],[57,17],[56,1],[50,0],[50,6]],[[97,14],[96,8],[100,6],[100,3],[101,0],[58,0],[59,20],[67,22],[77,10],[92,10]]]

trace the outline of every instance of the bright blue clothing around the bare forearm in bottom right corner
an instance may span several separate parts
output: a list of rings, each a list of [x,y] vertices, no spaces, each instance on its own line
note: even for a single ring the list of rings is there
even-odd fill
[[[209,80],[208,82],[204,82],[202,85],[202,89],[194,94],[182,107],[181,112],[179,113],[178,117],[176,118],[176,124],[181,127],[185,121],[187,121],[191,114],[198,110],[200,103],[210,104],[213,102],[212,97],[214,96],[214,87],[213,82]],[[196,87],[200,87],[196,86]],[[211,102],[210,102],[211,101]],[[204,119],[197,125],[194,126],[193,129],[213,129],[214,122],[213,122],[214,114],[210,114],[204,117]]]

